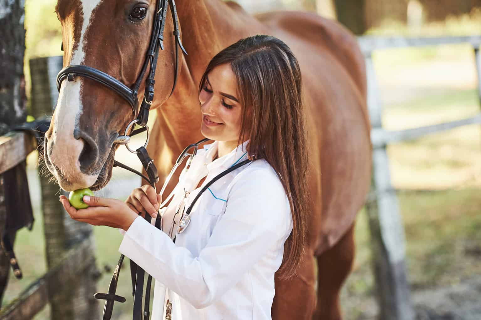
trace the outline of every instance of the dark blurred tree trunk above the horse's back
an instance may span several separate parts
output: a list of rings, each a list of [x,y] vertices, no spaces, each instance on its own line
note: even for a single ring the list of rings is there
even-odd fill
[[[366,0],[334,0],[337,19],[355,35],[366,32]]]

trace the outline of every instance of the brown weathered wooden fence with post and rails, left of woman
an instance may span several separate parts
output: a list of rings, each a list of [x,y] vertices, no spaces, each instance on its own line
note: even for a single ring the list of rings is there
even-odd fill
[[[30,60],[32,113],[37,119],[52,114],[58,97],[55,78],[61,68],[62,57]],[[36,148],[35,139],[23,131],[0,137],[0,176],[25,162]],[[93,294],[100,273],[95,265],[92,227],[72,220],[58,201],[60,188],[49,183],[45,175],[39,178],[48,272],[2,308],[0,319],[32,319],[47,303],[51,306],[52,320],[97,319],[99,303]],[[21,254],[17,258],[21,266]]]

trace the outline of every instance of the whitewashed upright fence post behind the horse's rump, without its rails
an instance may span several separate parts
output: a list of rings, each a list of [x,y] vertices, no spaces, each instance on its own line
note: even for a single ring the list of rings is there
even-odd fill
[[[381,128],[382,106],[372,57],[366,56],[369,116]],[[386,145],[374,147],[369,217],[371,249],[381,320],[413,320],[415,312],[405,266],[405,236],[395,190],[392,189]]]

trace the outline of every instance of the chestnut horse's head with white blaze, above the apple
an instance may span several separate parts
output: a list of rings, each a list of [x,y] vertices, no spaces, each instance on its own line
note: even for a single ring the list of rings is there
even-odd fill
[[[71,73],[59,82],[59,98],[45,135],[44,158],[63,190],[99,190],[110,180],[118,147],[114,141],[137,116],[137,101],[144,99],[149,72],[138,78],[148,59],[159,5],[155,0],[58,0],[63,66],[94,68],[127,89],[139,83],[139,90],[133,91],[134,103],[129,105],[125,96],[87,76]],[[167,15],[166,20],[165,32],[170,33],[174,29],[172,17]],[[166,40],[165,46],[171,50],[160,53],[157,65],[163,67],[157,75],[170,80],[175,76],[176,42],[174,37]],[[168,98],[172,86],[171,80],[157,81],[154,105]]]

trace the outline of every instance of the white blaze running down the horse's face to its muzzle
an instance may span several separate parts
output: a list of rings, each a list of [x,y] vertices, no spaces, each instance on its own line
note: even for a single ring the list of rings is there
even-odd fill
[[[85,46],[88,41],[85,34],[94,18],[92,12],[102,1],[81,0],[82,31],[69,65],[84,64]],[[98,175],[85,175],[80,171],[79,156],[84,147],[84,141],[74,138],[74,130],[82,114],[82,83],[81,77],[77,77],[73,82],[63,81],[55,109],[54,131],[51,137],[54,145],[49,154],[50,161],[61,171],[55,172],[54,175],[60,186],[67,191],[90,187],[98,177]],[[69,184],[66,184],[64,180],[67,180]]]

